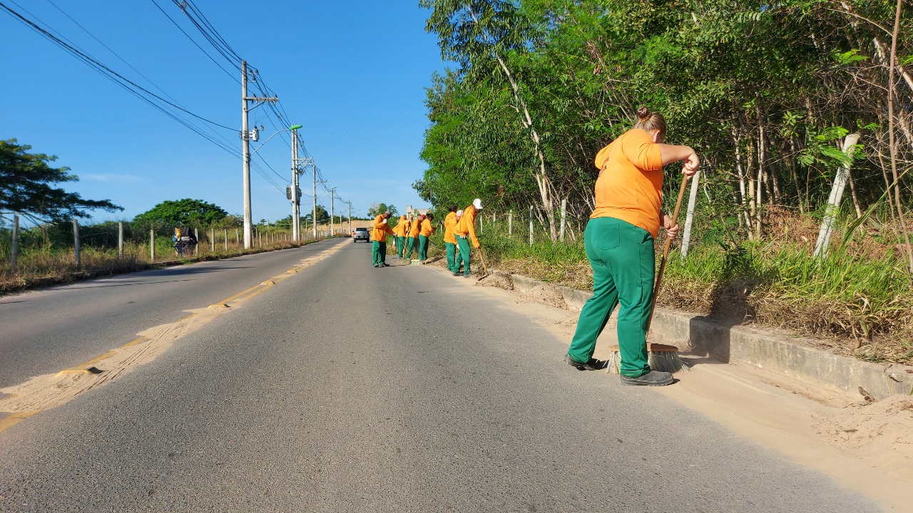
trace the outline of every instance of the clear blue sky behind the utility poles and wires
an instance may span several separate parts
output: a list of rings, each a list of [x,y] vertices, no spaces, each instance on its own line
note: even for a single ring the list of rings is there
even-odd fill
[[[232,129],[205,129],[227,152],[0,11],[6,48],[0,137],[57,155],[52,165],[68,166],[80,179],[62,184],[68,191],[124,207],[95,212],[89,223],[129,220],[185,197],[242,212],[241,73],[173,0],[0,2],[143,88]],[[425,33],[428,12],[417,4],[194,0],[288,114],[282,124],[264,106],[252,110],[251,125],[264,126],[260,142],[289,124],[303,125],[299,136],[327,185],[351,200],[352,215],[359,216],[374,202],[401,212],[406,204],[425,205],[412,188],[425,171],[418,156],[428,126],[424,88],[445,64],[436,37]],[[251,171],[255,223],[291,213],[285,196],[290,153],[289,132],[283,132],[257,152],[266,163],[254,157],[268,176]],[[301,177],[303,213],[310,212],[311,180],[310,172]],[[318,203],[331,207],[320,186]],[[343,209],[347,214],[348,205],[337,201],[337,213]]]

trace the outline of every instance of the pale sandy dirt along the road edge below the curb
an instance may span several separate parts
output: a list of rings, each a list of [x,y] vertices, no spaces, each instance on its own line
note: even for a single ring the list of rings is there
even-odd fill
[[[523,295],[509,283],[496,275],[467,286],[500,298],[570,344],[579,313],[556,308],[547,291]],[[606,358],[607,348],[617,343],[614,328],[611,319],[596,358]],[[664,342],[653,336],[650,341]],[[913,510],[913,396],[868,403],[858,395],[816,389],[748,364],[681,356],[690,371],[678,372],[678,382],[656,388],[656,393],[831,476],[886,510]]]

